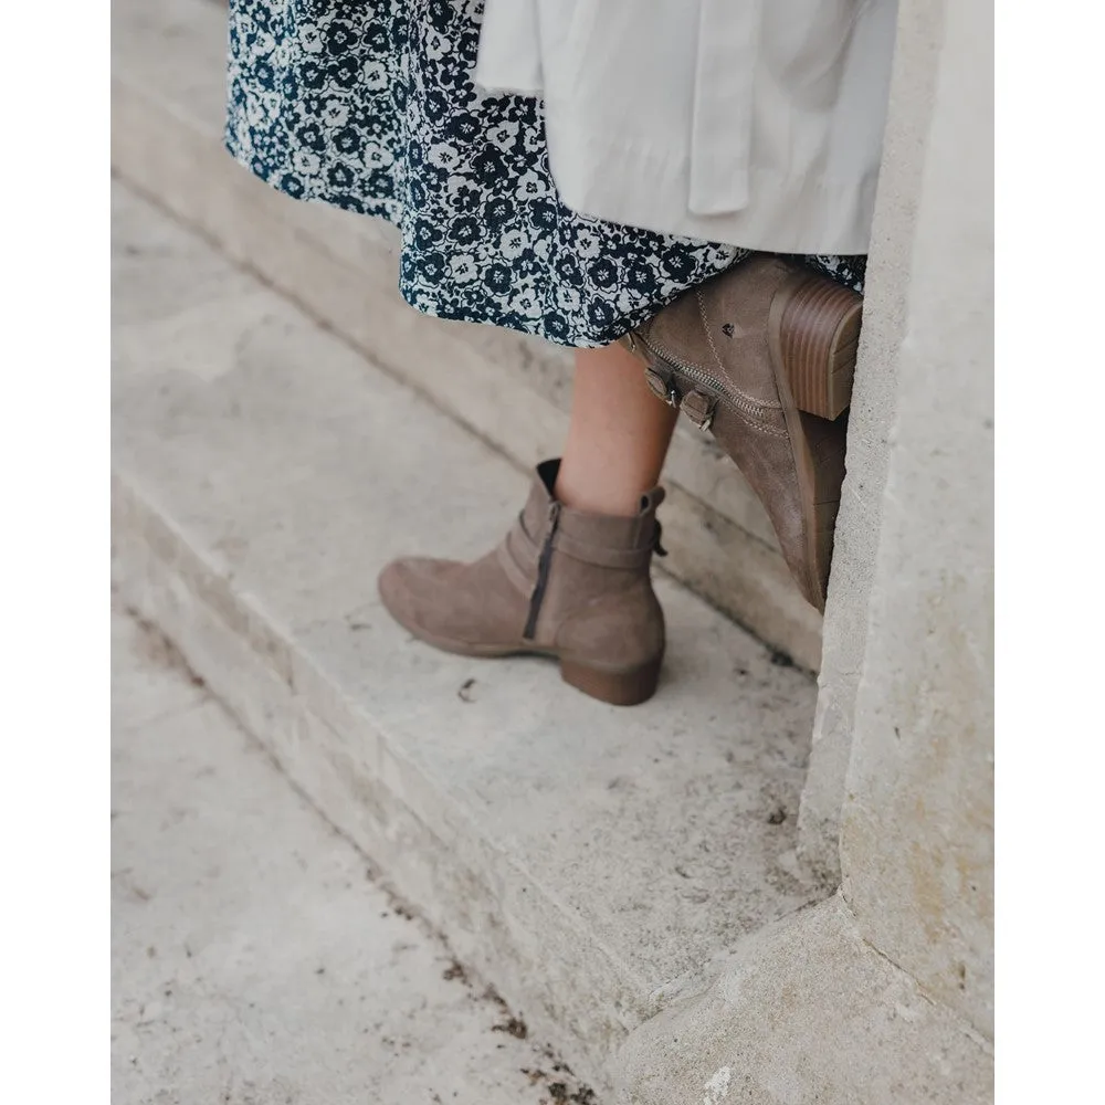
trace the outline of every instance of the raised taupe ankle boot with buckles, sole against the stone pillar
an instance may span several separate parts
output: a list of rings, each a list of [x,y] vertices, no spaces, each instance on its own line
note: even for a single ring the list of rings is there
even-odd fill
[[[687,292],[622,339],[645,360],[649,387],[736,462],[819,610],[862,305],[850,288],[765,255]]]

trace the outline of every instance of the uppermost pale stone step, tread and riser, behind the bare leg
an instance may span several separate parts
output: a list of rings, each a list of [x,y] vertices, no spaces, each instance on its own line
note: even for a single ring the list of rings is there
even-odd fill
[[[367,356],[527,469],[560,449],[570,355],[411,311],[385,223],[297,203],[222,148],[225,11],[210,0],[114,0],[116,172],[215,240]],[[665,472],[665,567],[817,670],[821,619],[794,588],[759,502],[713,439],[681,424]]]

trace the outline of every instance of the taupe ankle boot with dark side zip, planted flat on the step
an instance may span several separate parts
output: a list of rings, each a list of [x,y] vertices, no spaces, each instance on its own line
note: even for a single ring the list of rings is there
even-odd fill
[[[560,462],[537,466],[504,540],[473,564],[410,557],[380,573],[392,618],[419,640],[466,656],[556,656],[566,683],[603,702],[651,698],[664,615],[649,566],[663,488],[634,517],[589,514],[554,495]]]

